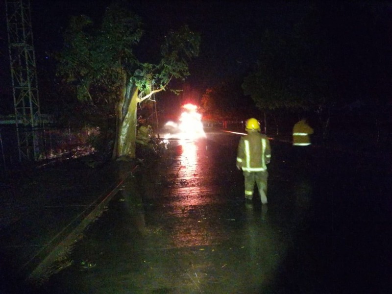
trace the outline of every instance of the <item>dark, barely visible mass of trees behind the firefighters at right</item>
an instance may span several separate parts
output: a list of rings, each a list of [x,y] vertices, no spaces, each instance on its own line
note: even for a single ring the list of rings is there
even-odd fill
[[[381,134],[388,139],[392,25],[387,8],[315,2],[290,34],[266,29],[260,57],[244,79],[244,94],[274,118],[287,111],[315,114],[324,140],[331,124],[352,128],[357,121],[376,140]]]

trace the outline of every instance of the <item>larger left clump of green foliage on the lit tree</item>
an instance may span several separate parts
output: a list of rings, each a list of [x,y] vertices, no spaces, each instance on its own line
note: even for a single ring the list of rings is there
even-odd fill
[[[138,67],[132,52],[143,35],[138,16],[115,2],[94,25],[87,16],[71,18],[64,48],[57,54],[57,74],[77,89],[77,98],[114,103],[129,72]],[[104,97],[103,97],[104,96]]]

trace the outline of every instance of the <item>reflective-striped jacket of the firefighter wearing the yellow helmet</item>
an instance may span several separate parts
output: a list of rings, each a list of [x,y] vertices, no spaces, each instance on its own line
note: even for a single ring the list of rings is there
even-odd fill
[[[241,137],[237,150],[237,162],[241,163],[243,171],[266,171],[270,158],[270,141],[266,135],[254,131]]]

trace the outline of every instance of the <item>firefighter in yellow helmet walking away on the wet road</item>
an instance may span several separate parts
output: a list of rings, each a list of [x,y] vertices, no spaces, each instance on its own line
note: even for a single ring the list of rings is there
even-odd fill
[[[260,123],[254,118],[246,121],[245,130],[247,135],[241,137],[237,151],[237,169],[242,170],[245,177],[245,201],[252,200],[256,182],[261,202],[267,204],[270,141],[266,135],[260,133]]]

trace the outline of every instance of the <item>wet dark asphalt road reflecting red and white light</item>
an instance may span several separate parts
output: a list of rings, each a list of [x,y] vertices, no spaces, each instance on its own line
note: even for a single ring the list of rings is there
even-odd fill
[[[238,140],[130,178],[41,293],[392,293],[389,163],[271,141],[269,204],[245,206]]]

